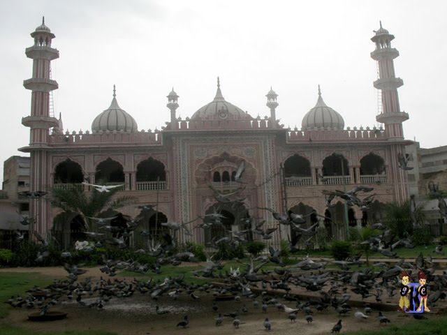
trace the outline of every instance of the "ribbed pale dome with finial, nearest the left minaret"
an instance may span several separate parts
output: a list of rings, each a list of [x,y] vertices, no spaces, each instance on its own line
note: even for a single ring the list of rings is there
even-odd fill
[[[119,107],[115,94],[115,85],[113,86],[113,99],[110,107],[95,117],[91,124],[91,131],[130,131],[132,133],[138,131],[135,119]]]

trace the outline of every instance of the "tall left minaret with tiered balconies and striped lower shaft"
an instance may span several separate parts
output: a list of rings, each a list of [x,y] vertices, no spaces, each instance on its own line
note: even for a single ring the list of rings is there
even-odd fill
[[[47,143],[50,128],[59,126],[59,121],[50,117],[50,91],[58,88],[57,82],[50,79],[50,62],[59,58],[59,51],[51,47],[52,39],[55,37],[50,28],[45,26],[44,18],[42,24],[31,33],[34,45],[27,47],[25,54],[33,59],[33,76],[24,80],[25,89],[31,90],[31,115],[22,118],[22,124],[31,128],[29,147],[22,151],[30,153],[30,191],[47,191],[50,182],[47,171]],[[45,232],[51,223],[48,215],[48,202],[44,200],[31,199],[29,212],[36,221],[34,230]]]

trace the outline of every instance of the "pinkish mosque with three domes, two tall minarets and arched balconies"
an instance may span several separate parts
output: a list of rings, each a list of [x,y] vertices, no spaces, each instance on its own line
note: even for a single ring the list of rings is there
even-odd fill
[[[110,107],[92,120],[91,131],[64,133],[61,117],[50,113],[50,94],[58,88],[50,77],[51,61],[59,57],[52,46],[55,36],[43,22],[31,37],[34,43],[26,54],[33,60],[33,72],[24,80],[31,91],[31,113],[22,118],[30,128],[30,142],[20,148],[30,154],[31,191],[86,188],[83,181],[122,185],[117,194],[136,199],[122,214],[135,217],[138,205],[156,204],[157,212],[142,223],[149,231],[161,231],[166,221],[223,215],[221,227],[193,229],[200,224],[196,220],[189,223],[191,237],[180,233],[180,241],[198,243],[226,230],[247,228],[247,218],[277,227],[265,208],[307,215],[309,223],[318,222],[315,213],[324,215],[320,225],[328,236],[343,239],[346,225],[379,220],[382,204],[409,198],[407,172],[397,162],[397,155],[412,143],[402,131],[409,115],[400,110],[397,94],[403,82],[395,76],[393,61],[399,52],[391,46],[394,36],[382,27],[371,38],[371,57],[379,68],[374,87],[381,90],[382,110],[376,121],[383,128],[345,128],[342,114],[323,101],[319,87],[316,105],[303,112],[301,128],[284,128],[277,120],[278,95],[272,89],[266,94],[270,117],[252,117],[224,98],[218,78],[210,103],[185,119],[177,117],[179,96],[171,91],[170,119],[160,131],[139,130],[137,120],[119,106],[114,87]],[[240,183],[235,174],[242,162]],[[345,208],[337,199],[334,206],[326,206],[323,190],[349,190],[360,184],[374,188],[369,209]],[[218,194],[233,197],[237,207],[235,202],[218,201]],[[48,201],[31,199],[29,214],[41,234],[82,229],[79,217],[67,221]],[[291,235],[290,228],[281,225],[272,241]]]

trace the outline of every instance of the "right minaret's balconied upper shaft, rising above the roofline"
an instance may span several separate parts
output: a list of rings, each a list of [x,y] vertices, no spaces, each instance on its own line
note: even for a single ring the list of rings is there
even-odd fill
[[[391,47],[394,36],[388,30],[382,28],[376,31],[371,40],[376,43],[376,50],[371,52],[371,58],[379,63],[379,79],[374,82],[374,87],[382,91],[382,112],[377,115],[376,120],[385,124],[386,136],[390,139],[402,140],[404,131],[402,122],[409,116],[400,111],[399,96],[397,88],[404,82],[395,76],[393,59],[399,56],[399,52]]]

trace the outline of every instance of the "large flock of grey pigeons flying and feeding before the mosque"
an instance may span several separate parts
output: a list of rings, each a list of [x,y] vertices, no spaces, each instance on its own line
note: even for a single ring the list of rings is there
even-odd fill
[[[406,164],[406,163],[405,163]],[[406,165],[405,165],[406,166]],[[243,184],[242,173],[244,172],[244,164],[241,163],[235,177],[237,182]],[[92,187],[98,192],[108,192],[111,186],[93,185]],[[220,193],[215,190],[212,185],[210,188],[216,193],[215,198],[218,202],[226,204],[226,206],[238,208],[243,204],[243,199],[238,198],[238,194],[243,189],[238,188],[231,193]],[[365,210],[369,203],[372,202],[374,195],[368,195],[366,198],[358,198],[360,192],[370,192],[372,188],[365,186],[356,186],[351,191],[324,191],[326,202],[331,206],[331,202],[335,198],[341,198],[346,201],[349,206],[358,206]],[[39,197],[43,195],[31,194],[31,197]],[[293,265],[284,265],[281,250],[268,247],[268,254],[261,255],[256,258],[250,258],[248,262],[240,261],[240,265],[230,269],[224,267],[223,262],[213,260],[213,257],[207,255],[205,265],[198,270],[193,271],[196,276],[207,278],[209,283],[204,285],[186,283],[184,276],[170,277],[166,276],[163,281],[155,281],[149,279],[147,281],[138,281],[134,278],[132,281],[128,279],[113,278],[117,275],[117,270],[133,271],[139,274],[163,274],[163,265],[180,265],[182,262],[192,262],[196,258],[191,252],[177,252],[179,246],[177,237],[180,230],[186,235],[191,236],[192,229],[189,223],[162,223],[169,232],[163,234],[163,240],[157,241],[151,239],[151,234],[145,230],[137,230],[140,221],[154,212],[154,205],[145,205],[138,207],[141,209],[139,216],[136,218],[124,217],[124,224],[112,225],[112,218],[91,218],[95,221],[98,231],[85,232],[87,241],[78,241],[75,248],[80,251],[93,251],[103,244],[110,244],[117,248],[127,248],[129,245],[129,237],[132,234],[141,234],[147,238],[147,248],[137,251],[145,253],[154,258],[154,262],[141,264],[133,260],[112,260],[103,255],[103,266],[101,271],[104,276],[99,281],[91,278],[83,278],[79,276],[85,274],[87,270],[82,269],[82,265],[74,264],[72,255],[69,252],[62,252],[61,258],[66,260],[64,269],[67,271],[67,278],[64,280],[54,280],[54,283],[46,288],[32,288],[28,291],[26,297],[11,297],[6,301],[10,306],[17,308],[39,308],[40,315],[45,315],[52,306],[68,304],[68,301],[76,301],[76,304],[89,308],[103,309],[110,299],[122,299],[132,297],[136,292],[149,297],[154,304],[157,304],[156,315],[170,313],[166,308],[161,308],[159,303],[163,301],[177,299],[199,300],[202,295],[209,294],[217,299],[233,299],[237,303],[243,304],[242,307],[235,311],[220,311],[217,301],[212,306],[215,325],[220,327],[224,323],[224,319],[231,318],[235,329],[242,327],[244,315],[249,313],[247,303],[252,304],[253,308],[261,308],[263,313],[267,315],[269,311],[284,311],[287,319],[292,323],[300,319],[298,315],[302,314],[302,320],[308,324],[314,322],[314,318],[318,319],[317,313],[333,308],[340,317],[344,317],[353,313],[354,317],[359,320],[367,320],[372,316],[372,307],[365,302],[363,311],[352,311],[350,300],[353,295],[356,299],[367,299],[374,297],[377,303],[386,301],[396,301],[399,296],[400,281],[399,274],[406,270],[409,274],[416,274],[422,270],[427,276],[427,287],[430,295],[427,304],[430,308],[438,304],[439,299],[445,299],[444,291],[447,289],[447,271],[442,274],[435,274],[432,267],[431,257],[424,258],[419,255],[416,264],[411,264],[400,259],[392,266],[386,263],[376,263],[373,267],[364,269],[351,268],[360,265],[360,254],[356,257],[346,260],[312,260],[305,258],[297,261]],[[277,221],[278,225],[287,225],[298,233],[302,240],[308,240],[316,233],[316,225],[309,228],[303,228],[307,223],[307,216],[301,214],[280,214],[269,208],[262,208],[272,213],[272,217]],[[315,213],[316,214],[316,213]],[[318,214],[316,214],[318,216]],[[212,214],[206,214],[201,218],[203,223],[196,225],[198,228],[210,228],[212,226],[223,226],[223,216],[218,211]],[[22,224],[29,224],[29,218],[21,218]],[[241,219],[244,226],[251,226],[248,231],[257,234],[261,239],[269,240],[272,233],[277,230],[275,228],[263,228],[263,223],[257,223],[253,218]],[[395,241],[395,235],[387,230],[381,223],[376,223],[372,228],[380,231],[374,237],[370,237],[363,243],[369,244],[374,251],[379,251],[382,255],[390,258],[396,258],[397,254],[393,251],[397,247],[412,248],[411,239],[401,239]],[[230,232],[230,236],[214,239],[211,246],[219,248],[221,244],[235,245],[244,243],[247,230],[240,232]],[[36,255],[36,262],[42,262],[48,255],[48,241],[36,234],[38,241],[41,243],[41,250]],[[23,237],[17,237],[20,239]],[[290,245],[291,251],[296,250],[296,242]],[[437,246],[434,253],[444,254],[442,246]],[[325,269],[326,265],[337,265],[339,270]],[[380,269],[380,270],[378,270]],[[413,278],[416,280],[416,278]],[[293,290],[307,290],[316,292],[313,298],[304,300],[299,295],[294,294]],[[397,295],[396,295],[397,291]],[[271,293],[275,292],[277,298],[272,297]],[[295,304],[293,307],[289,306]],[[377,319],[380,325],[386,325],[390,322],[381,311],[377,311]],[[415,314],[416,315],[416,314]],[[420,315],[415,318],[420,318]],[[342,318],[332,328],[332,333],[339,333],[342,330]],[[177,327],[190,327],[189,315],[184,315],[179,320]],[[367,322],[367,321],[365,321]],[[270,331],[272,322],[268,317],[263,318],[262,325],[266,331]]]

